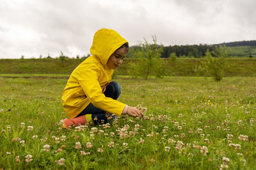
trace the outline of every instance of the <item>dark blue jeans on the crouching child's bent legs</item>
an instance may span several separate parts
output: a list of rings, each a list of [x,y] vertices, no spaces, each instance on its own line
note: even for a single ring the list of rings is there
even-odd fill
[[[116,81],[111,81],[106,87],[104,94],[106,97],[111,97],[112,99],[116,100],[121,94],[121,87]],[[106,117],[106,111],[96,108],[92,103],[90,103],[83,111],[81,111],[77,117],[86,114],[92,114],[92,120],[94,124],[104,124],[109,122],[108,118]],[[97,120],[94,120],[95,117],[97,117]]]

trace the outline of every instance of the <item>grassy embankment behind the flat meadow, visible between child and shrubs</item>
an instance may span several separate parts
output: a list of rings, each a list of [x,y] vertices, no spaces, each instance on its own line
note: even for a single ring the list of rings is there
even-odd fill
[[[118,68],[118,74],[125,75],[129,70],[129,62],[125,59]],[[164,59],[162,59],[164,60]],[[175,76],[196,76],[194,69],[200,66],[204,59],[177,59],[169,63],[166,73]],[[230,67],[226,76],[255,76],[255,58],[228,59]],[[1,59],[0,74],[70,74],[83,59]]]

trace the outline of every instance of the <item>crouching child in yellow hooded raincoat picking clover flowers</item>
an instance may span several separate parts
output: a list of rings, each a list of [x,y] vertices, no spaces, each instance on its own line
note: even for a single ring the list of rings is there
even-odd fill
[[[66,129],[91,120],[95,124],[106,123],[106,112],[116,116],[143,116],[140,110],[116,101],[121,87],[111,82],[114,70],[122,64],[128,51],[128,42],[116,31],[100,29],[95,33],[90,48],[92,56],[74,69],[63,91],[61,99],[68,115],[64,120]]]

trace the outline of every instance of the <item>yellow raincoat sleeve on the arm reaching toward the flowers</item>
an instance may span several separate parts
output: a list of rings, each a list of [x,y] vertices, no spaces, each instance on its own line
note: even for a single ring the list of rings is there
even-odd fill
[[[78,82],[84,90],[84,94],[91,101],[93,106],[109,113],[120,116],[125,108],[124,103],[120,103],[110,97],[102,94],[102,89],[99,84],[99,68],[89,66],[86,71],[79,73]]]

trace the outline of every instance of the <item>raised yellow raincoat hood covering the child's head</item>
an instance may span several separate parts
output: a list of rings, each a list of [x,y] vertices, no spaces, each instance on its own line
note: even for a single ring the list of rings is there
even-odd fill
[[[101,64],[107,65],[108,59],[120,46],[127,41],[113,29],[100,29],[93,36],[90,52],[100,60]]]

